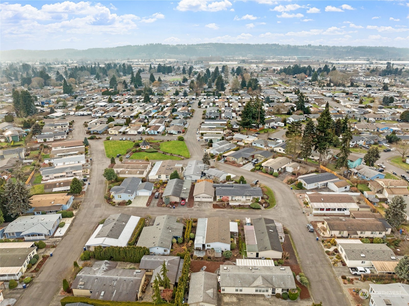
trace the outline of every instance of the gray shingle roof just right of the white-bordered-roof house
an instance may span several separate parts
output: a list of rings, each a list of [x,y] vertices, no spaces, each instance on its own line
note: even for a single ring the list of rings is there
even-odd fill
[[[173,237],[181,237],[183,224],[173,216],[158,216],[153,226],[145,226],[139,236],[137,246],[169,248]]]

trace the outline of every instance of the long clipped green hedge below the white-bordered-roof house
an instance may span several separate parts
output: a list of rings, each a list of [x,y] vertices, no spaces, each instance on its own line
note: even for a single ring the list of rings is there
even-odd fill
[[[94,257],[98,260],[128,261],[140,263],[144,255],[149,255],[149,249],[142,246],[96,246]]]

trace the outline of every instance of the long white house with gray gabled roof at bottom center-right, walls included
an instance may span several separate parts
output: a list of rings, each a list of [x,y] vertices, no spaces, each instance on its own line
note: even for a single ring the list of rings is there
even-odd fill
[[[296,288],[290,267],[225,266],[218,271],[220,292],[274,295]]]

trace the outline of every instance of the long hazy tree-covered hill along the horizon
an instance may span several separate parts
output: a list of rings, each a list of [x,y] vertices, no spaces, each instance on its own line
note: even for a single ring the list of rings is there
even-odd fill
[[[312,56],[319,58],[344,59],[351,57],[376,60],[409,59],[409,48],[396,47],[351,47],[351,46],[292,46],[279,44],[222,44],[208,43],[197,45],[148,44],[113,48],[92,48],[86,50],[6,50],[0,51],[3,61],[49,61],[49,60],[126,60],[155,58],[224,58],[226,56],[251,56],[266,58],[269,56]]]

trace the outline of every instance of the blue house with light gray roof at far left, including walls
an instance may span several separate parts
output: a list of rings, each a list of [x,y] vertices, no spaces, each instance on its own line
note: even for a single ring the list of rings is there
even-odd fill
[[[61,219],[61,214],[18,217],[7,226],[4,234],[8,239],[44,240],[54,234]]]

